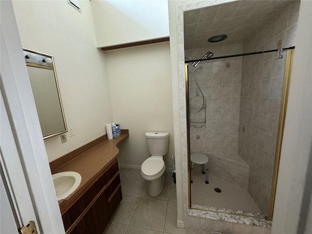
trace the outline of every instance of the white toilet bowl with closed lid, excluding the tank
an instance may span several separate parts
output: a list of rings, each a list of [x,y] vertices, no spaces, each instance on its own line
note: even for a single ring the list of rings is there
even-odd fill
[[[146,192],[150,196],[157,196],[161,193],[165,172],[165,163],[162,156],[151,156],[141,166],[141,176],[147,180]]]

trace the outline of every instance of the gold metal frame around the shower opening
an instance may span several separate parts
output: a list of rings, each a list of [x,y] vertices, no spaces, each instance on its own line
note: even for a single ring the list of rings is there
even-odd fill
[[[288,102],[288,93],[289,93],[289,85],[290,85],[290,77],[292,71],[292,59],[293,59],[293,52],[294,49],[287,50],[287,57],[285,63],[285,73],[284,73],[284,82],[283,82],[283,90],[282,90],[282,99],[281,99],[281,109],[279,115],[279,124],[278,124],[278,134],[277,134],[277,142],[276,142],[276,150],[275,150],[275,161],[274,161],[274,170],[273,170],[273,181],[272,181],[272,191],[271,191],[271,199],[270,199],[270,213],[266,216],[267,220],[272,221],[273,213],[274,213],[274,202],[275,202],[275,195],[276,195],[276,185],[277,185],[277,176],[278,176],[278,169],[279,169],[279,162],[281,156],[281,149],[282,149],[282,142],[283,142],[283,134],[284,134],[284,126],[285,126],[285,117],[287,111],[287,102]],[[186,98],[186,121],[188,126],[186,128],[186,136],[187,136],[187,172],[188,172],[188,207],[189,209],[195,209],[191,207],[191,186],[190,186],[190,132],[189,132],[189,92],[188,92],[188,65],[187,63],[184,65],[184,72],[185,72],[185,98]],[[201,209],[195,209],[201,210]],[[208,210],[205,210],[208,211]],[[219,212],[219,211],[211,211],[217,213],[224,213],[230,214],[226,212]],[[230,214],[233,215],[233,214]],[[242,215],[242,216],[249,216],[249,215]],[[254,217],[254,216],[251,216]],[[258,217],[261,218],[261,217]]]

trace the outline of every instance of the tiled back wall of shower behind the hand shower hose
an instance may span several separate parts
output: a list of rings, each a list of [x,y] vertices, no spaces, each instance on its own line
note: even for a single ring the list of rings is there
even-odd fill
[[[214,57],[240,54],[243,44],[186,50],[185,56],[200,59],[207,51],[213,52]],[[191,114],[190,118],[206,118],[206,125],[191,126],[191,153],[237,153],[241,69],[241,57],[202,61],[195,67],[197,82],[206,98],[206,110]],[[193,68],[188,81],[190,105],[201,105],[201,95],[196,97]]]

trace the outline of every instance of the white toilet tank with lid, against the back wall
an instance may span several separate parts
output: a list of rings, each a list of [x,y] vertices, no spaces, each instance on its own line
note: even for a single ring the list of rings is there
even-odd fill
[[[145,133],[151,156],[165,156],[168,153],[169,133]]]

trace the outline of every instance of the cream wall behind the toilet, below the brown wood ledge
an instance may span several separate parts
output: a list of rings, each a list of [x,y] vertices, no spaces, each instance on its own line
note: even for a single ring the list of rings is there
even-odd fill
[[[118,156],[121,165],[141,166],[150,155],[145,132],[169,132],[166,168],[174,155],[169,42],[105,52],[114,121],[129,129]]]

